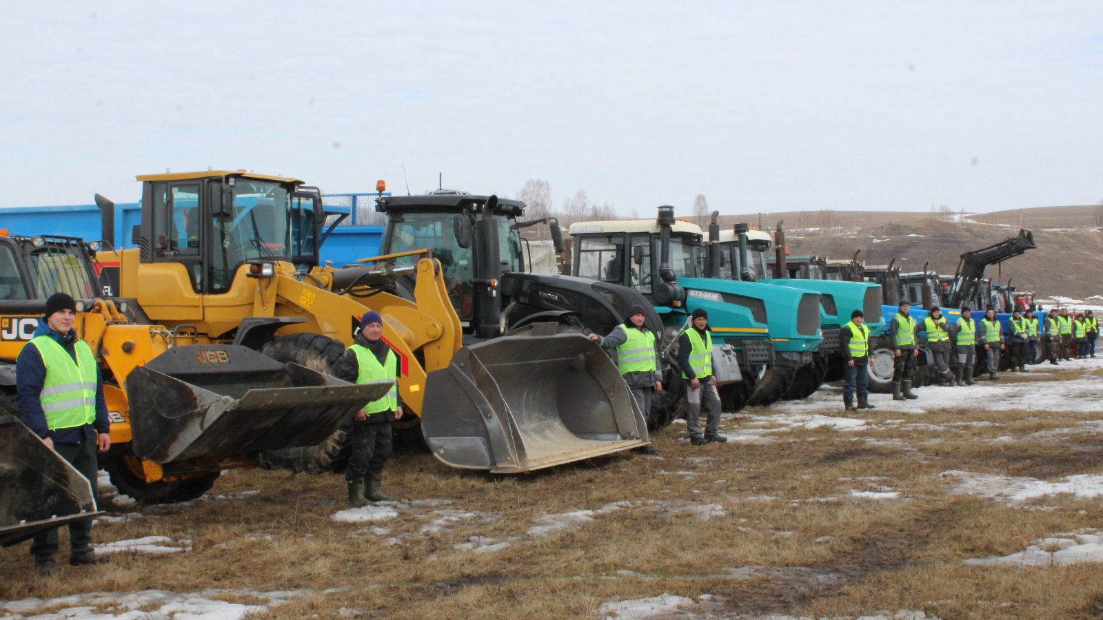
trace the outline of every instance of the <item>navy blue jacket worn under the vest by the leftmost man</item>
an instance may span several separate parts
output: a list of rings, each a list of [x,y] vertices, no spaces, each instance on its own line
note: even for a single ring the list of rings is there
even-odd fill
[[[34,331],[34,338],[50,335],[54,339],[76,362],[76,330],[69,330],[67,334],[60,334],[50,329],[45,319],[39,321],[39,329]],[[79,443],[85,439],[95,439],[97,432],[110,430],[111,423],[107,418],[107,402],[104,400],[104,377],[96,368],[96,421],[84,426],[72,428],[58,428],[50,430],[46,425],[46,415],[42,410],[42,386],[46,383],[46,365],[42,362],[42,354],[38,346],[26,344],[19,352],[15,361],[15,389],[19,400],[19,408],[23,411],[23,421],[28,428],[42,438],[50,437],[54,443]]]

